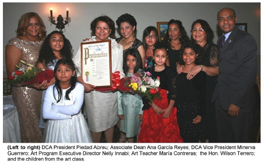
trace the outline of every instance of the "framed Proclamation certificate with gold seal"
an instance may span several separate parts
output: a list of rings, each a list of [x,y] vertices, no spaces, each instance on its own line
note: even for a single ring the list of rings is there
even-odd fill
[[[112,87],[111,40],[81,43],[81,73],[96,88]]]

